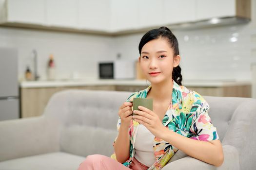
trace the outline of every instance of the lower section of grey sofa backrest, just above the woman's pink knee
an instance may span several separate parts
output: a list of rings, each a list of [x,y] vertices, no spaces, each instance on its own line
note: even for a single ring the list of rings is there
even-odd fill
[[[71,125],[61,131],[60,151],[88,156],[103,154],[110,156],[113,152],[113,142],[117,130],[97,127]]]

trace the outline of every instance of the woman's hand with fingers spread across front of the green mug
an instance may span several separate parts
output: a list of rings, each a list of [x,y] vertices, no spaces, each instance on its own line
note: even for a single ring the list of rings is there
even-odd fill
[[[160,121],[158,115],[143,106],[138,106],[138,109],[139,110],[133,111],[133,113],[137,114],[133,116],[133,119],[138,121],[140,124],[143,124],[154,136],[159,137],[165,130],[165,127]]]

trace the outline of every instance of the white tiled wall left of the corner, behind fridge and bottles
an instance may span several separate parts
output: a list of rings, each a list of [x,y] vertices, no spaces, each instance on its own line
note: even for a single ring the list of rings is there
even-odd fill
[[[57,79],[68,79],[73,72],[80,78],[96,79],[98,61],[111,59],[113,39],[109,36],[37,31],[0,27],[0,46],[19,50],[19,78],[24,78],[26,65],[33,68],[32,50],[38,51],[38,73],[46,79],[46,67],[52,53]]]

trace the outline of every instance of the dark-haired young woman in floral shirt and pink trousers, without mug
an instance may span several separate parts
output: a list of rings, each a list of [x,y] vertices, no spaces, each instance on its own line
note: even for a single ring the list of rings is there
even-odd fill
[[[196,91],[181,85],[180,55],[175,35],[166,27],[147,32],[140,40],[139,62],[146,89],[132,94],[118,111],[118,136],[110,157],[90,155],[79,170],[160,170],[181,150],[219,167],[222,145],[208,115],[209,104]],[[133,98],[153,98],[153,111]],[[132,113],[136,116],[132,116]]]

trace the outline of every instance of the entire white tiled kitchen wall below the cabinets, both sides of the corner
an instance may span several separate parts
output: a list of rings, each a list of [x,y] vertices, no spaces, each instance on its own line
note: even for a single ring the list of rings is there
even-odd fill
[[[252,21],[247,25],[173,30],[179,42],[184,79],[251,80],[251,63],[256,62],[256,0],[252,0],[251,6]],[[123,59],[137,60],[143,34],[111,37],[0,27],[0,46],[19,49],[20,79],[26,65],[33,68],[34,48],[39,55],[41,79],[46,79],[51,53],[56,60],[58,79],[68,79],[72,72],[78,72],[80,78],[96,79],[100,60],[115,59],[117,53]],[[232,37],[236,42],[231,42]]]

